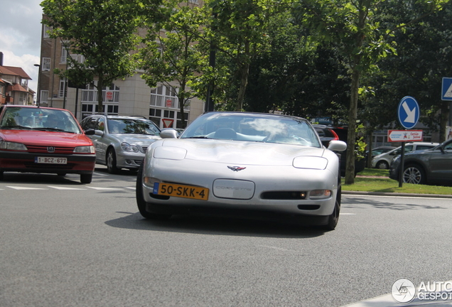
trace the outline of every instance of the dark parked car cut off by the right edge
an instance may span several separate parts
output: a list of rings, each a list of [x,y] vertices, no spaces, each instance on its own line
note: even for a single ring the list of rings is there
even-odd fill
[[[389,178],[399,181],[401,157],[397,156],[389,168]],[[404,183],[452,184],[452,139],[432,149],[404,154]]]

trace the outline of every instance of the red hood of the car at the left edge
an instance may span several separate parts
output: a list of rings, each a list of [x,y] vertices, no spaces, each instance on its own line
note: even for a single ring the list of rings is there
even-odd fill
[[[2,130],[0,131],[0,137],[5,141],[12,141],[29,145],[92,145],[91,140],[88,139],[85,134],[73,134],[60,131]]]

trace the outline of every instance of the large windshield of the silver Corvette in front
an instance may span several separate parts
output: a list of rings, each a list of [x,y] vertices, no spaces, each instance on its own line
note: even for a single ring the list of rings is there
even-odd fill
[[[204,114],[181,135],[181,139],[189,138],[322,146],[306,119],[245,112]]]

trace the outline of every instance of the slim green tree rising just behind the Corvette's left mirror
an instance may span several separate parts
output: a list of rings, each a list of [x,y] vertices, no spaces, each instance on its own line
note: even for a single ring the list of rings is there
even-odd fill
[[[165,6],[166,18],[158,24],[161,28],[156,29],[154,23],[147,25],[149,33],[140,50],[145,71],[142,77],[150,87],[162,82],[173,90],[179,101],[181,128],[185,128],[184,107],[198,96],[194,84],[208,65],[205,51],[198,45],[208,15],[205,8],[190,3],[166,1]],[[174,81],[178,82],[177,90]]]

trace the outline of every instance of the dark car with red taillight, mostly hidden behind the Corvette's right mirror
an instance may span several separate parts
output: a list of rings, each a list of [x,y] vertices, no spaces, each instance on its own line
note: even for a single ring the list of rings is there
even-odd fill
[[[348,129],[346,128],[336,128],[333,126],[325,126],[322,124],[313,124],[314,129],[316,129],[318,136],[321,139],[323,146],[328,148],[330,141],[345,141],[347,143]],[[340,154],[340,176],[345,177],[345,167],[347,165],[347,151],[343,151]],[[355,176],[360,171],[365,168],[365,158],[360,160],[355,160]]]

